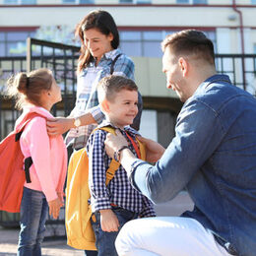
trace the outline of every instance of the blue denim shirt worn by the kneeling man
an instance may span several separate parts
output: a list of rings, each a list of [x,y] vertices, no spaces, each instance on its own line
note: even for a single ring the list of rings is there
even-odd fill
[[[155,166],[136,160],[130,178],[155,203],[187,188],[196,219],[237,255],[256,255],[256,99],[215,75],[184,103],[176,136]],[[220,240],[219,240],[220,241]]]

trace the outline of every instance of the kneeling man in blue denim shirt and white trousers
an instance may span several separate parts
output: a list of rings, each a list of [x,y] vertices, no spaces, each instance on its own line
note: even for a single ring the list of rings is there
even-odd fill
[[[162,42],[167,88],[184,105],[164,151],[143,139],[147,160],[129,149],[119,160],[135,188],[155,203],[187,189],[195,208],[181,217],[132,221],[116,240],[119,255],[256,255],[256,99],[217,75],[214,47],[203,32]],[[108,155],[127,142],[108,136]]]

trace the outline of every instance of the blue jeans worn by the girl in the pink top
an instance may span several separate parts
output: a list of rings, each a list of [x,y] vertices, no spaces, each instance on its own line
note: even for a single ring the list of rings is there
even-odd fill
[[[48,203],[40,191],[24,188],[21,204],[21,231],[18,256],[41,256]]]

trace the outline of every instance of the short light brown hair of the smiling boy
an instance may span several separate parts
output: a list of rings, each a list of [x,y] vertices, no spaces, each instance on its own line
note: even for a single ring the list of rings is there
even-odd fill
[[[114,75],[104,77],[97,84],[98,100],[99,102],[102,102],[103,99],[113,101],[116,93],[122,90],[138,92],[138,87],[135,82],[129,78]]]

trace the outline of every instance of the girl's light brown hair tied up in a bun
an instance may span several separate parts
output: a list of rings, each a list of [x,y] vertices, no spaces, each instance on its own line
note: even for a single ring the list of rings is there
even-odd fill
[[[7,82],[6,95],[16,99],[16,107],[22,109],[24,104],[31,102],[41,106],[41,93],[49,91],[53,76],[48,69],[37,69],[29,73],[18,73]]]

